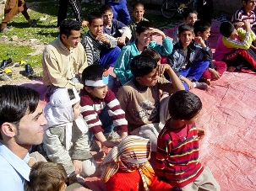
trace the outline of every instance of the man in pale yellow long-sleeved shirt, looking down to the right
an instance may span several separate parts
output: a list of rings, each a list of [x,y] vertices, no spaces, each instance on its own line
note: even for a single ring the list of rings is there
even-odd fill
[[[43,52],[42,82],[48,87],[47,94],[52,95],[56,88],[83,88],[76,72],[82,74],[87,66],[87,58],[83,45],[80,43],[78,21],[64,20],[60,25],[60,34]]]

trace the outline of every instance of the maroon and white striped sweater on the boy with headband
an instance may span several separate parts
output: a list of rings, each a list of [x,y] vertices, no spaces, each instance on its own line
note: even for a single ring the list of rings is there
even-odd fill
[[[125,119],[125,113],[121,109],[120,103],[118,102],[115,94],[111,90],[108,90],[106,97],[92,98],[89,93],[82,89],[80,92],[82,115],[86,121],[89,129],[93,134],[103,131],[101,128],[101,120],[99,119],[99,114],[101,114],[102,109],[107,107],[107,112],[112,118],[113,125],[117,130],[117,133],[128,131],[128,122]]]

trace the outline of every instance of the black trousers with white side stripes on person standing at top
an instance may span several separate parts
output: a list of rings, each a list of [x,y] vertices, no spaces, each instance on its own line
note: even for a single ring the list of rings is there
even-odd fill
[[[82,23],[83,20],[81,18],[81,4],[79,0],[59,0],[58,3],[57,27],[59,27],[63,20],[67,18],[68,6],[72,8],[75,19],[79,21],[79,23]]]

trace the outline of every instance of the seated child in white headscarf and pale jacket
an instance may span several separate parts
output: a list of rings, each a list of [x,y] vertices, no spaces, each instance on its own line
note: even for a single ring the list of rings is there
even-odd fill
[[[95,161],[104,157],[103,151],[90,154],[88,126],[79,103],[75,88],[58,88],[44,110],[48,122],[43,139],[47,156],[63,164],[70,183],[77,181],[77,175],[96,175],[100,168]]]

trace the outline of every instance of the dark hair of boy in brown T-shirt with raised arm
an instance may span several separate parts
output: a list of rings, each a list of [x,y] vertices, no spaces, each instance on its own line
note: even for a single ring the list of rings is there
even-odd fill
[[[144,77],[152,72],[157,66],[156,61],[151,56],[138,55],[130,63],[131,72],[134,77]]]

